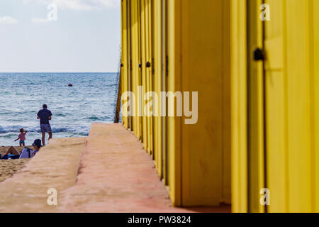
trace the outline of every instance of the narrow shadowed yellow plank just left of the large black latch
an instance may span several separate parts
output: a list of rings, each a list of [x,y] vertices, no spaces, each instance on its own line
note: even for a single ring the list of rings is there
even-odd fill
[[[260,191],[264,185],[264,74],[262,61],[255,61],[255,48],[263,49],[262,21],[259,7],[262,0],[248,1],[248,187],[249,211],[264,212],[260,204]]]

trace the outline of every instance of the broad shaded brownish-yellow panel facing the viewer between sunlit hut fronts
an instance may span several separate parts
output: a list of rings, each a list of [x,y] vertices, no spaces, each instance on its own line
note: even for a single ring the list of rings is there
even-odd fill
[[[229,110],[223,104],[227,105],[230,97],[230,87],[223,87],[229,81],[230,67],[224,58],[229,54],[223,49],[229,45],[223,37],[229,28],[224,4],[227,1],[181,3],[181,87],[182,91],[198,92],[198,122],[181,125],[183,206],[216,206],[224,200],[223,180],[228,176],[223,176],[223,160],[230,162],[230,148],[223,146],[223,140],[230,143],[230,135],[223,134],[228,131],[223,120]],[[228,158],[223,159],[223,154]]]

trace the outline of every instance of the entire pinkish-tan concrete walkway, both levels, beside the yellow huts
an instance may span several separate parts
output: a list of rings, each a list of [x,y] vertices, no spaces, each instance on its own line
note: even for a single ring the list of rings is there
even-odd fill
[[[47,205],[49,188],[57,189],[57,206]],[[0,183],[4,211],[228,212],[230,207],[172,207],[137,138],[119,124],[96,123],[88,138],[50,141],[26,168]]]

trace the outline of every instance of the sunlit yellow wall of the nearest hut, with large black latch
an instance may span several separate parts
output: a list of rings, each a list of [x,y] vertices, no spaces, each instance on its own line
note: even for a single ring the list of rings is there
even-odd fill
[[[267,0],[262,22],[261,3],[232,2],[233,211],[318,212],[319,4]]]

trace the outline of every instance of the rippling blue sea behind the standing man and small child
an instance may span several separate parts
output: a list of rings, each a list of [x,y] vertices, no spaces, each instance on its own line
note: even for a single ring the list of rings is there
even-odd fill
[[[18,145],[20,128],[26,145],[41,138],[43,104],[53,138],[87,136],[91,123],[113,122],[117,94],[118,73],[0,73],[0,146]]]

